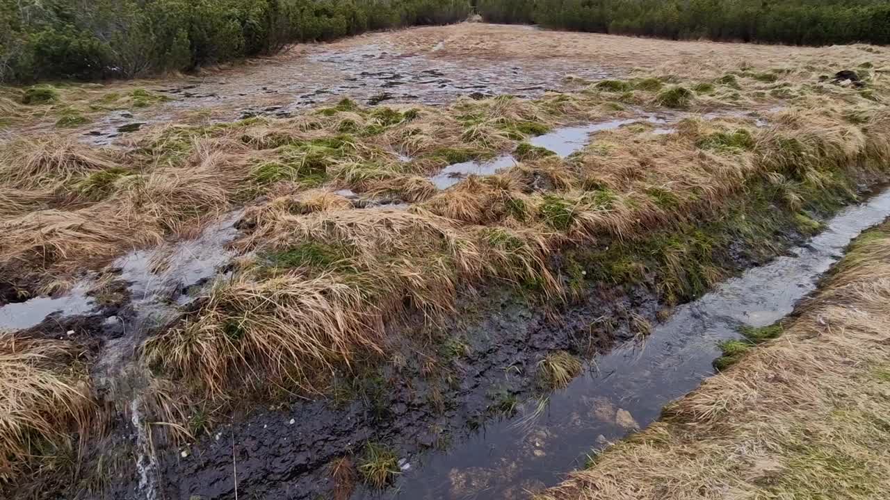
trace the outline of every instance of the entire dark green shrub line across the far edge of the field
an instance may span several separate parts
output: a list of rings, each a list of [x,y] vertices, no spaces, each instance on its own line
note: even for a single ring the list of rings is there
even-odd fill
[[[141,77],[465,20],[674,39],[890,44],[886,0],[0,0],[0,82]]]

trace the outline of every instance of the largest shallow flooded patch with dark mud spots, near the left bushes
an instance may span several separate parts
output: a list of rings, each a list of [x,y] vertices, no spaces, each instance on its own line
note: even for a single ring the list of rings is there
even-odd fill
[[[528,32],[533,28],[516,27]],[[183,112],[208,109],[214,121],[247,117],[290,117],[300,109],[349,96],[363,104],[445,104],[461,96],[512,94],[538,97],[548,90],[577,88],[584,79],[624,74],[620,69],[578,65],[569,57],[492,60],[441,56],[410,50],[387,34],[360,37],[366,43],[307,44],[263,60],[249,71],[227,70],[201,77],[149,82],[150,91],[172,101],[151,109],[115,111],[85,127],[82,139],[109,144],[142,125],[166,123]],[[566,77],[571,76],[567,82]],[[571,82],[574,82],[572,84]]]

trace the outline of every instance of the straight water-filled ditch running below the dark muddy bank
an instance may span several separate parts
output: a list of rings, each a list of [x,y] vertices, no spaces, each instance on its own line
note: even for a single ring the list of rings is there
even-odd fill
[[[597,357],[589,372],[552,394],[546,407],[527,402],[513,418],[488,424],[446,453],[415,457],[398,488],[384,496],[522,498],[530,496],[527,489],[557,484],[593,449],[652,423],[668,402],[713,375],[719,341],[738,338],[740,326],[764,327],[787,316],[815,290],[844,247],[888,215],[890,190],[845,209],[789,256],[748,270],[677,308],[643,347]]]

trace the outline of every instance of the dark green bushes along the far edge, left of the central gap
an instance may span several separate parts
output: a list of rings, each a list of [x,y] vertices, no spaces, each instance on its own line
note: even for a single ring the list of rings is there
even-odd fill
[[[470,13],[467,0],[0,0],[0,82],[189,70]]]

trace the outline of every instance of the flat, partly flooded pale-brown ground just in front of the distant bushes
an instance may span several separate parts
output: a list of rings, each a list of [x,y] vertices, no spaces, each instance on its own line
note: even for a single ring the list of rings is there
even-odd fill
[[[547,90],[578,90],[590,80],[627,77],[637,68],[706,76],[719,73],[727,61],[782,68],[839,51],[851,59],[862,55],[855,45],[674,42],[481,23],[409,28],[330,44],[297,44],[275,56],[196,75],[87,85],[80,97],[90,100],[147,89],[171,101],[91,111],[92,123],[56,132],[96,145],[125,146],[147,125],[289,117],[344,96],[368,104],[445,104],[460,96],[499,94],[533,98]],[[0,126],[0,138],[53,130],[56,118],[38,115],[30,125],[15,125],[17,130]]]

